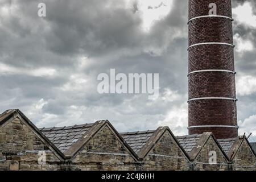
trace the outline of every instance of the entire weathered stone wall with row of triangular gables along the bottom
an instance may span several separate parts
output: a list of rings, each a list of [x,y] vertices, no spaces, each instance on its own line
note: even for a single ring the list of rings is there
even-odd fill
[[[105,123],[70,158],[60,155],[18,115],[0,125],[0,170],[256,170],[256,157],[246,139],[232,161],[212,135],[195,146],[201,147],[195,158],[185,153],[169,130],[150,141],[154,144],[141,158]],[[46,152],[46,164],[38,162],[40,151]],[[216,151],[217,164],[209,164],[209,151]]]

